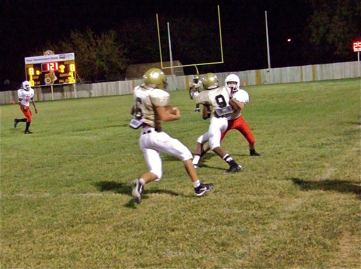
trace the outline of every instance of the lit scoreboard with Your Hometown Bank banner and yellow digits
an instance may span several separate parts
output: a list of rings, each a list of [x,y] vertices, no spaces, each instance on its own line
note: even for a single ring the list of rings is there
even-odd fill
[[[74,53],[25,57],[25,74],[33,87],[74,84]]]

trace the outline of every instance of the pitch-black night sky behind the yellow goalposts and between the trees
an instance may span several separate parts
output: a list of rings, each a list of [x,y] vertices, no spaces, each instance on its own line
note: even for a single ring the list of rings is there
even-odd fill
[[[168,35],[167,22],[172,27],[179,20],[200,18],[214,25],[219,36],[219,5],[222,29],[223,64],[199,66],[201,73],[236,72],[268,67],[265,11],[267,10],[271,68],[314,64],[299,56],[301,37],[311,12],[305,0],[292,1],[1,1],[0,10],[0,82],[10,80],[18,85],[25,80],[24,57],[34,56],[47,40],[56,43],[71,30],[91,29],[97,34],[110,29],[121,29],[129,22],[144,21],[139,31],[154,33],[147,42],[158,47],[156,14],[160,19],[161,33]],[[227,2],[223,4],[222,2]],[[289,3],[287,3],[289,2]],[[201,29],[181,29],[184,32]],[[134,37],[136,39],[137,37]],[[287,42],[290,38],[291,42]],[[119,37],[120,40],[121,37]],[[168,40],[168,36],[166,36]],[[204,60],[220,61],[219,39],[205,40],[194,53],[177,52],[177,37],[171,36],[173,60],[182,64],[204,63]],[[190,40],[191,42],[191,40]],[[163,46],[163,45],[162,45]],[[203,47],[212,47],[213,55],[204,55]],[[175,48],[175,50],[173,49]],[[135,48],[136,49],[136,48]],[[60,53],[60,52],[55,52]],[[160,61],[159,55],[139,54],[132,63]],[[168,43],[162,47],[163,60],[169,60]],[[76,55],[75,57],[79,57]],[[76,61],[76,58],[75,58]],[[194,67],[184,68],[186,74],[194,73]]]

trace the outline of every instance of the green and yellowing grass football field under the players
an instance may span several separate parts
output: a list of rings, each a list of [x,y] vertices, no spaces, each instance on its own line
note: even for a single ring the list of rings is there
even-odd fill
[[[210,152],[194,196],[181,161],[133,204],[147,170],[131,95],[38,102],[24,134],[1,106],[1,268],[360,268],[360,80],[247,86],[243,116],[260,157],[230,131]],[[172,91],[179,121],[164,131],[192,152],[209,120]],[[31,106],[32,107],[32,106]]]

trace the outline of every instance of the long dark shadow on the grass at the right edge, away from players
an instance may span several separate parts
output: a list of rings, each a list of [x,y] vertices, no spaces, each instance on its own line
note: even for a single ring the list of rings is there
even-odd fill
[[[322,191],[338,191],[342,193],[354,193],[361,198],[361,186],[350,181],[344,180],[303,180],[299,178],[291,178],[293,183],[299,185],[302,190],[322,190]]]

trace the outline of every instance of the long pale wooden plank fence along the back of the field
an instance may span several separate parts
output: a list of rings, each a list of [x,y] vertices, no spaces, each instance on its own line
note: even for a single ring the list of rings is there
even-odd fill
[[[236,74],[241,85],[260,85],[288,82],[333,80],[340,78],[358,77],[358,62],[345,62],[333,64],[315,64],[297,67],[283,67],[249,70],[240,72],[216,73],[220,85],[224,85],[229,74]],[[168,77],[169,90],[188,89],[193,76]],[[135,86],[142,84],[142,80],[128,80],[115,82],[102,82],[94,84],[55,85],[35,87],[35,101],[61,100],[82,97],[95,97],[119,94],[131,94]],[[17,89],[0,92],[0,104],[17,102]]]

